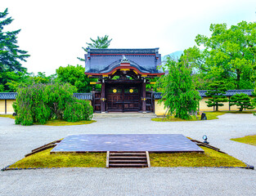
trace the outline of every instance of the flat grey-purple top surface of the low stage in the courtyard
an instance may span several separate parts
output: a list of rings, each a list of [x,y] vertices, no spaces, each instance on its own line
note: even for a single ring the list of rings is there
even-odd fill
[[[150,153],[204,153],[182,134],[82,134],[66,136],[52,149],[56,153],[129,151]]]

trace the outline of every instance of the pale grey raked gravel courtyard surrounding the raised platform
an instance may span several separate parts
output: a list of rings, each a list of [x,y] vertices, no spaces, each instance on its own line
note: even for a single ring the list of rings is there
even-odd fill
[[[256,166],[256,147],[230,138],[256,134],[252,114],[225,114],[202,122],[153,122],[150,118],[98,118],[89,125],[14,125],[0,118],[0,167],[40,145],[70,134],[182,133]],[[239,168],[62,168],[0,172],[0,195],[256,195],[256,171]]]

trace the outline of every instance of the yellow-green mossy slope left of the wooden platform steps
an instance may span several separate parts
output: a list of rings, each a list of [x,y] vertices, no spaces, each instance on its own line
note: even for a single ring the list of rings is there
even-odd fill
[[[10,168],[29,167],[106,167],[106,153],[50,154],[46,149],[23,158]]]

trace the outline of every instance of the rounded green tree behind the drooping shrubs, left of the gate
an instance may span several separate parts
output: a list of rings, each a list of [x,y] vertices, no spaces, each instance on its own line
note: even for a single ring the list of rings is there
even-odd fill
[[[78,89],[78,92],[92,91],[92,85],[87,75],[84,74],[85,68],[82,65],[68,65],[66,67],[59,67],[56,69],[57,81],[69,82]]]

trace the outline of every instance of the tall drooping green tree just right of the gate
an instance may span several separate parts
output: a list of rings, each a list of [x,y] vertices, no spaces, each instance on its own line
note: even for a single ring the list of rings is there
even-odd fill
[[[168,115],[189,119],[197,111],[200,100],[192,82],[191,69],[186,67],[186,62],[178,63],[170,58],[164,66],[168,68],[168,74],[159,79],[163,92],[161,101],[164,101]]]

